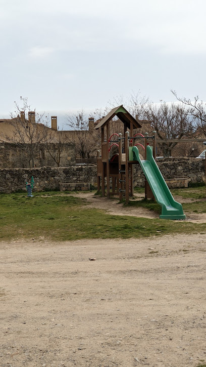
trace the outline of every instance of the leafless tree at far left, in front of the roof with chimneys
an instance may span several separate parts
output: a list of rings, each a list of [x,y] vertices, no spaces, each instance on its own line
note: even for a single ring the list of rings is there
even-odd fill
[[[21,97],[21,99],[23,99]],[[40,125],[46,122],[46,116],[44,114],[38,114],[30,110],[30,106],[27,103],[27,98],[24,98],[24,107],[21,108],[17,102],[15,102],[16,110],[11,112],[11,119],[8,121],[12,127],[11,134],[4,134],[4,138],[11,143],[16,144],[25,152],[25,159],[28,162],[28,166],[34,167],[34,154],[41,141],[41,128]],[[25,112],[30,112],[30,118],[25,118]],[[33,113],[32,113],[33,112]]]

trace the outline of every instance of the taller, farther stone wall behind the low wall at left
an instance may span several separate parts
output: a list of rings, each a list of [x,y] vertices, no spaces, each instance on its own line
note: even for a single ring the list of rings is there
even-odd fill
[[[22,147],[12,143],[0,143],[0,169],[3,168],[28,168],[29,162],[27,158],[27,144],[22,144]],[[48,144],[49,151],[53,157],[58,154],[58,143]],[[57,167],[57,164],[45,146],[40,144],[35,149],[34,164],[36,167],[52,166]],[[75,162],[75,145],[64,143],[61,146],[61,167],[68,167]]]

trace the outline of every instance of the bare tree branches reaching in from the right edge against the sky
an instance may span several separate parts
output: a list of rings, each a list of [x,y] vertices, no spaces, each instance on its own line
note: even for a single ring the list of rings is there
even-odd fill
[[[199,99],[199,96],[194,97],[194,102],[192,102],[190,99],[178,97],[176,91],[171,92],[179,102],[187,107],[188,113],[195,121],[197,132],[199,128],[200,135],[203,133],[203,135],[206,137],[206,104]]]

